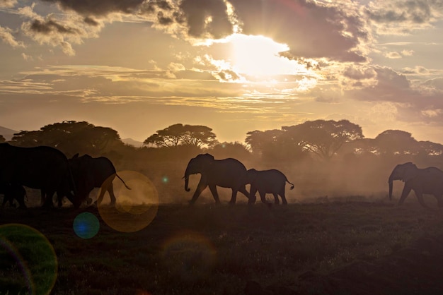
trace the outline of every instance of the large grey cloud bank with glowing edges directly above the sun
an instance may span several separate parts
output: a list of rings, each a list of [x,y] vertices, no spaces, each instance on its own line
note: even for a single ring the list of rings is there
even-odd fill
[[[146,13],[157,13],[156,28],[194,44],[238,32],[287,44],[287,58],[366,61],[369,31],[360,6],[350,2],[183,0],[148,7]]]

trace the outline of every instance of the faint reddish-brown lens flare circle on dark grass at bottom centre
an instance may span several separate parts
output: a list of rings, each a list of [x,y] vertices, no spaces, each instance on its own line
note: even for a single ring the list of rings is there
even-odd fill
[[[163,243],[162,262],[171,275],[196,282],[210,275],[217,258],[212,243],[201,234],[183,232]]]

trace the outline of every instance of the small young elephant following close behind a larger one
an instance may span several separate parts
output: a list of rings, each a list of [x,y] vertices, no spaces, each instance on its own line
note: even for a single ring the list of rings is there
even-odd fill
[[[251,190],[249,191],[249,203],[255,203],[255,193],[260,194],[260,198],[263,203],[266,203],[266,193],[272,193],[274,195],[275,204],[279,203],[278,195],[282,198],[282,203],[287,205],[286,197],[284,196],[284,186],[286,183],[290,183],[286,176],[282,172],[276,169],[258,171],[255,169],[249,169],[246,172],[246,184],[251,183]],[[294,188],[294,183],[291,189]]]

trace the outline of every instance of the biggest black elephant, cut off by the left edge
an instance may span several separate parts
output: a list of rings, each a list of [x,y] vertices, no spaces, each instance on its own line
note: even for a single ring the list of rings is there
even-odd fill
[[[52,198],[56,192],[66,195],[75,208],[80,206],[68,159],[56,148],[21,148],[0,143],[0,181],[40,189],[44,207],[54,206]]]

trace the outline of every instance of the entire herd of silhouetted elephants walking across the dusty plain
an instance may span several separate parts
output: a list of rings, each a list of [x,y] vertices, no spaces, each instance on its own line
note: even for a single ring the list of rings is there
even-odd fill
[[[255,193],[259,193],[263,203],[266,193],[272,193],[275,204],[287,204],[285,196],[287,177],[277,169],[258,171],[246,169],[237,159],[214,159],[212,155],[200,154],[190,159],[185,169],[185,191],[190,191],[189,177],[191,174],[200,174],[194,195],[189,203],[192,205],[203,190],[209,186],[215,203],[220,203],[217,186],[231,188],[230,204],[236,203],[237,193],[241,192],[248,198],[248,204],[255,203]],[[59,207],[62,198],[67,199],[80,207],[85,201],[91,203],[89,193],[93,188],[101,188],[97,203],[103,200],[105,192],[110,195],[110,205],[114,205],[116,198],[113,191],[115,176],[130,189],[125,181],[117,175],[113,163],[106,157],[91,157],[90,155],[74,155],[68,159],[61,151],[47,146],[21,148],[8,143],[0,143],[0,194],[4,195],[2,207],[13,200],[17,200],[20,207],[25,206],[26,191],[23,186],[39,189],[43,207],[53,207],[53,196],[57,193]],[[427,207],[423,200],[424,194],[434,195],[439,207],[443,207],[443,171],[436,167],[419,169],[412,162],[398,164],[389,176],[389,198],[392,198],[393,181],[401,180],[405,183],[398,205],[401,205],[410,191],[414,191],[419,203]],[[251,184],[250,191],[246,185]]]

